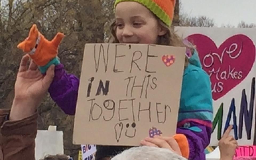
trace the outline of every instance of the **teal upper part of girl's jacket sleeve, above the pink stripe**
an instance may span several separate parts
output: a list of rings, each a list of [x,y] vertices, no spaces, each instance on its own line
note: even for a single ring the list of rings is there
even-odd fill
[[[191,64],[183,75],[178,122],[186,119],[202,123],[204,121],[211,122],[213,119],[213,99],[209,75],[201,68]]]

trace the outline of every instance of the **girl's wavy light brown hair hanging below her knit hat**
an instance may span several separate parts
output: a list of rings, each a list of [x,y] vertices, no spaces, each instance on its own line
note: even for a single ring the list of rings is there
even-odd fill
[[[152,13],[153,14],[153,13]],[[167,30],[167,33],[162,35],[162,36],[158,36],[157,39],[157,45],[166,45],[166,46],[176,46],[176,47],[187,47],[191,50],[191,53],[194,53],[194,49],[195,47],[193,45],[191,46],[187,46],[183,43],[183,40],[181,37],[179,37],[175,32],[174,32],[174,27],[168,27],[167,25],[165,25],[165,23],[163,23],[158,17],[155,16],[155,18],[157,18],[158,23]],[[112,37],[110,38],[110,42],[111,43],[119,43],[118,39],[117,39],[117,35],[116,35],[116,23],[115,21],[110,25],[110,32]],[[184,53],[185,54],[185,53]],[[185,67],[187,67],[189,63],[189,60],[187,58],[187,56],[185,57]]]

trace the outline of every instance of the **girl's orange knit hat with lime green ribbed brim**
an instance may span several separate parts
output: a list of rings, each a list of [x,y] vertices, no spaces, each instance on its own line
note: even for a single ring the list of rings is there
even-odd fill
[[[116,7],[119,2],[123,1],[141,3],[160,18],[167,26],[171,26],[174,15],[175,0],[116,0],[114,7]]]

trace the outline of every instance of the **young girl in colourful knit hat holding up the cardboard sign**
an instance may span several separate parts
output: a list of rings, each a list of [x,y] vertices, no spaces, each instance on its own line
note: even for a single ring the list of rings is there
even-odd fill
[[[144,43],[185,46],[170,29],[175,0],[116,0],[115,22],[111,25],[113,43]],[[187,46],[188,47],[188,46]],[[185,53],[184,53],[185,54]],[[205,159],[204,149],[210,142],[213,117],[211,84],[202,70],[198,53],[189,46],[179,106],[177,134],[185,135],[188,159]],[[75,114],[79,79],[67,74],[60,64],[49,88],[53,100],[69,115]],[[159,146],[156,138],[146,138],[142,145]],[[96,159],[111,157],[126,147],[98,146]],[[108,155],[108,156],[107,156]],[[186,156],[185,156],[186,157]]]

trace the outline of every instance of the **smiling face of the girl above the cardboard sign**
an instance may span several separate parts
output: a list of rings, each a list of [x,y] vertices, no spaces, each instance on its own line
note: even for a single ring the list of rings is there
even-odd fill
[[[137,2],[118,3],[115,21],[120,43],[156,44],[157,37],[167,32],[151,11]]]

